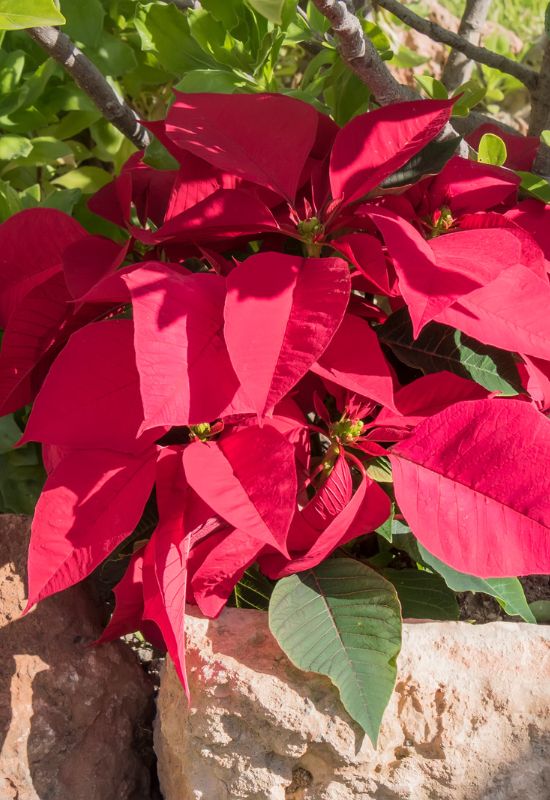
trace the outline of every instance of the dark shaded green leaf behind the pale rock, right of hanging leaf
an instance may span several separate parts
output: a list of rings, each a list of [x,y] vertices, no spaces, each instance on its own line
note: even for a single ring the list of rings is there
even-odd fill
[[[458,619],[458,603],[443,578],[418,569],[384,569],[395,586],[403,619]]]

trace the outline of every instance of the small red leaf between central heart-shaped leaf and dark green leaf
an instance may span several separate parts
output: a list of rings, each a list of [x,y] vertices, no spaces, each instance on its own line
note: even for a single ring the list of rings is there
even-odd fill
[[[346,314],[330,345],[311,368],[339,386],[393,408],[393,375],[369,323]]]

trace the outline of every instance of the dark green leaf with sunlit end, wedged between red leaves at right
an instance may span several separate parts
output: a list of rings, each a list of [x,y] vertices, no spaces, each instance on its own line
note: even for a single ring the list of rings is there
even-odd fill
[[[430,322],[417,339],[406,309],[401,309],[377,329],[380,341],[397,358],[425,375],[447,370],[506,397],[518,394],[521,382],[513,356],[481,344],[439,322]]]

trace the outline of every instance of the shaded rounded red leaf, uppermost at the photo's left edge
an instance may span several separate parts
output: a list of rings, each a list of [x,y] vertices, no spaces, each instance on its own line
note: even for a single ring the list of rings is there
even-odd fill
[[[0,327],[28,291],[61,270],[66,248],[85,238],[76,220],[53,208],[27,209],[0,225]]]

